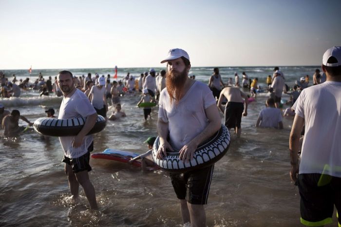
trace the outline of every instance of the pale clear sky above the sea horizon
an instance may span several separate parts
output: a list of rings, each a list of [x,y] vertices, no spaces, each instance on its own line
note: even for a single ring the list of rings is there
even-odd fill
[[[0,69],[321,65],[341,0],[0,0]]]

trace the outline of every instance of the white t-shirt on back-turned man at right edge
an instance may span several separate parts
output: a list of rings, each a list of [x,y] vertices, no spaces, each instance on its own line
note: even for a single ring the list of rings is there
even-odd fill
[[[308,87],[295,104],[305,120],[299,173],[341,177],[341,82]]]

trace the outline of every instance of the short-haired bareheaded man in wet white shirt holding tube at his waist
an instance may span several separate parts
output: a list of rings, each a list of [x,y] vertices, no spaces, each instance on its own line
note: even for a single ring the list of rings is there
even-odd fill
[[[69,71],[58,73],[58,86],[63,93],[60,104],[58,119],[71,119],[75,117],[86,117],[83,128],[76,136],[59,137],[61,147],[64,151],[62,162],[65,163],[65,173],[68,176],[72,200],[77,201],[79,185],[89,201],[91,209],[97,209],[95,189],[90,182],[88,171],[90,151],[94,149],[92,135],[86,135],[94,127],[97,114],[87,96],[75,87],[75,80]]]

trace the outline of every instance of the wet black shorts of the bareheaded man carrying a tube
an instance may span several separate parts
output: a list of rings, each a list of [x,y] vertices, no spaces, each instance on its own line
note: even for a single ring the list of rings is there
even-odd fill
[[[64,155],[64,158],[62,162],[70,165],[72,167],[73,172],[81,172],[84,170],[91,171],[92,168],[89,164],[90,161],[90,152],[94,150],[94,142],[90,144],[88,147],[88,152],[86,154],[83,154],[80,157],[77,158],[69,158]]]

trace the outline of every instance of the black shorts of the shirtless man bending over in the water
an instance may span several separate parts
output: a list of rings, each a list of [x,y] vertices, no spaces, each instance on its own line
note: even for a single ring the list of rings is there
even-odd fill
[[[228,102],[225,106],[224,121],[228,129],[241,128],[244,103]]]

